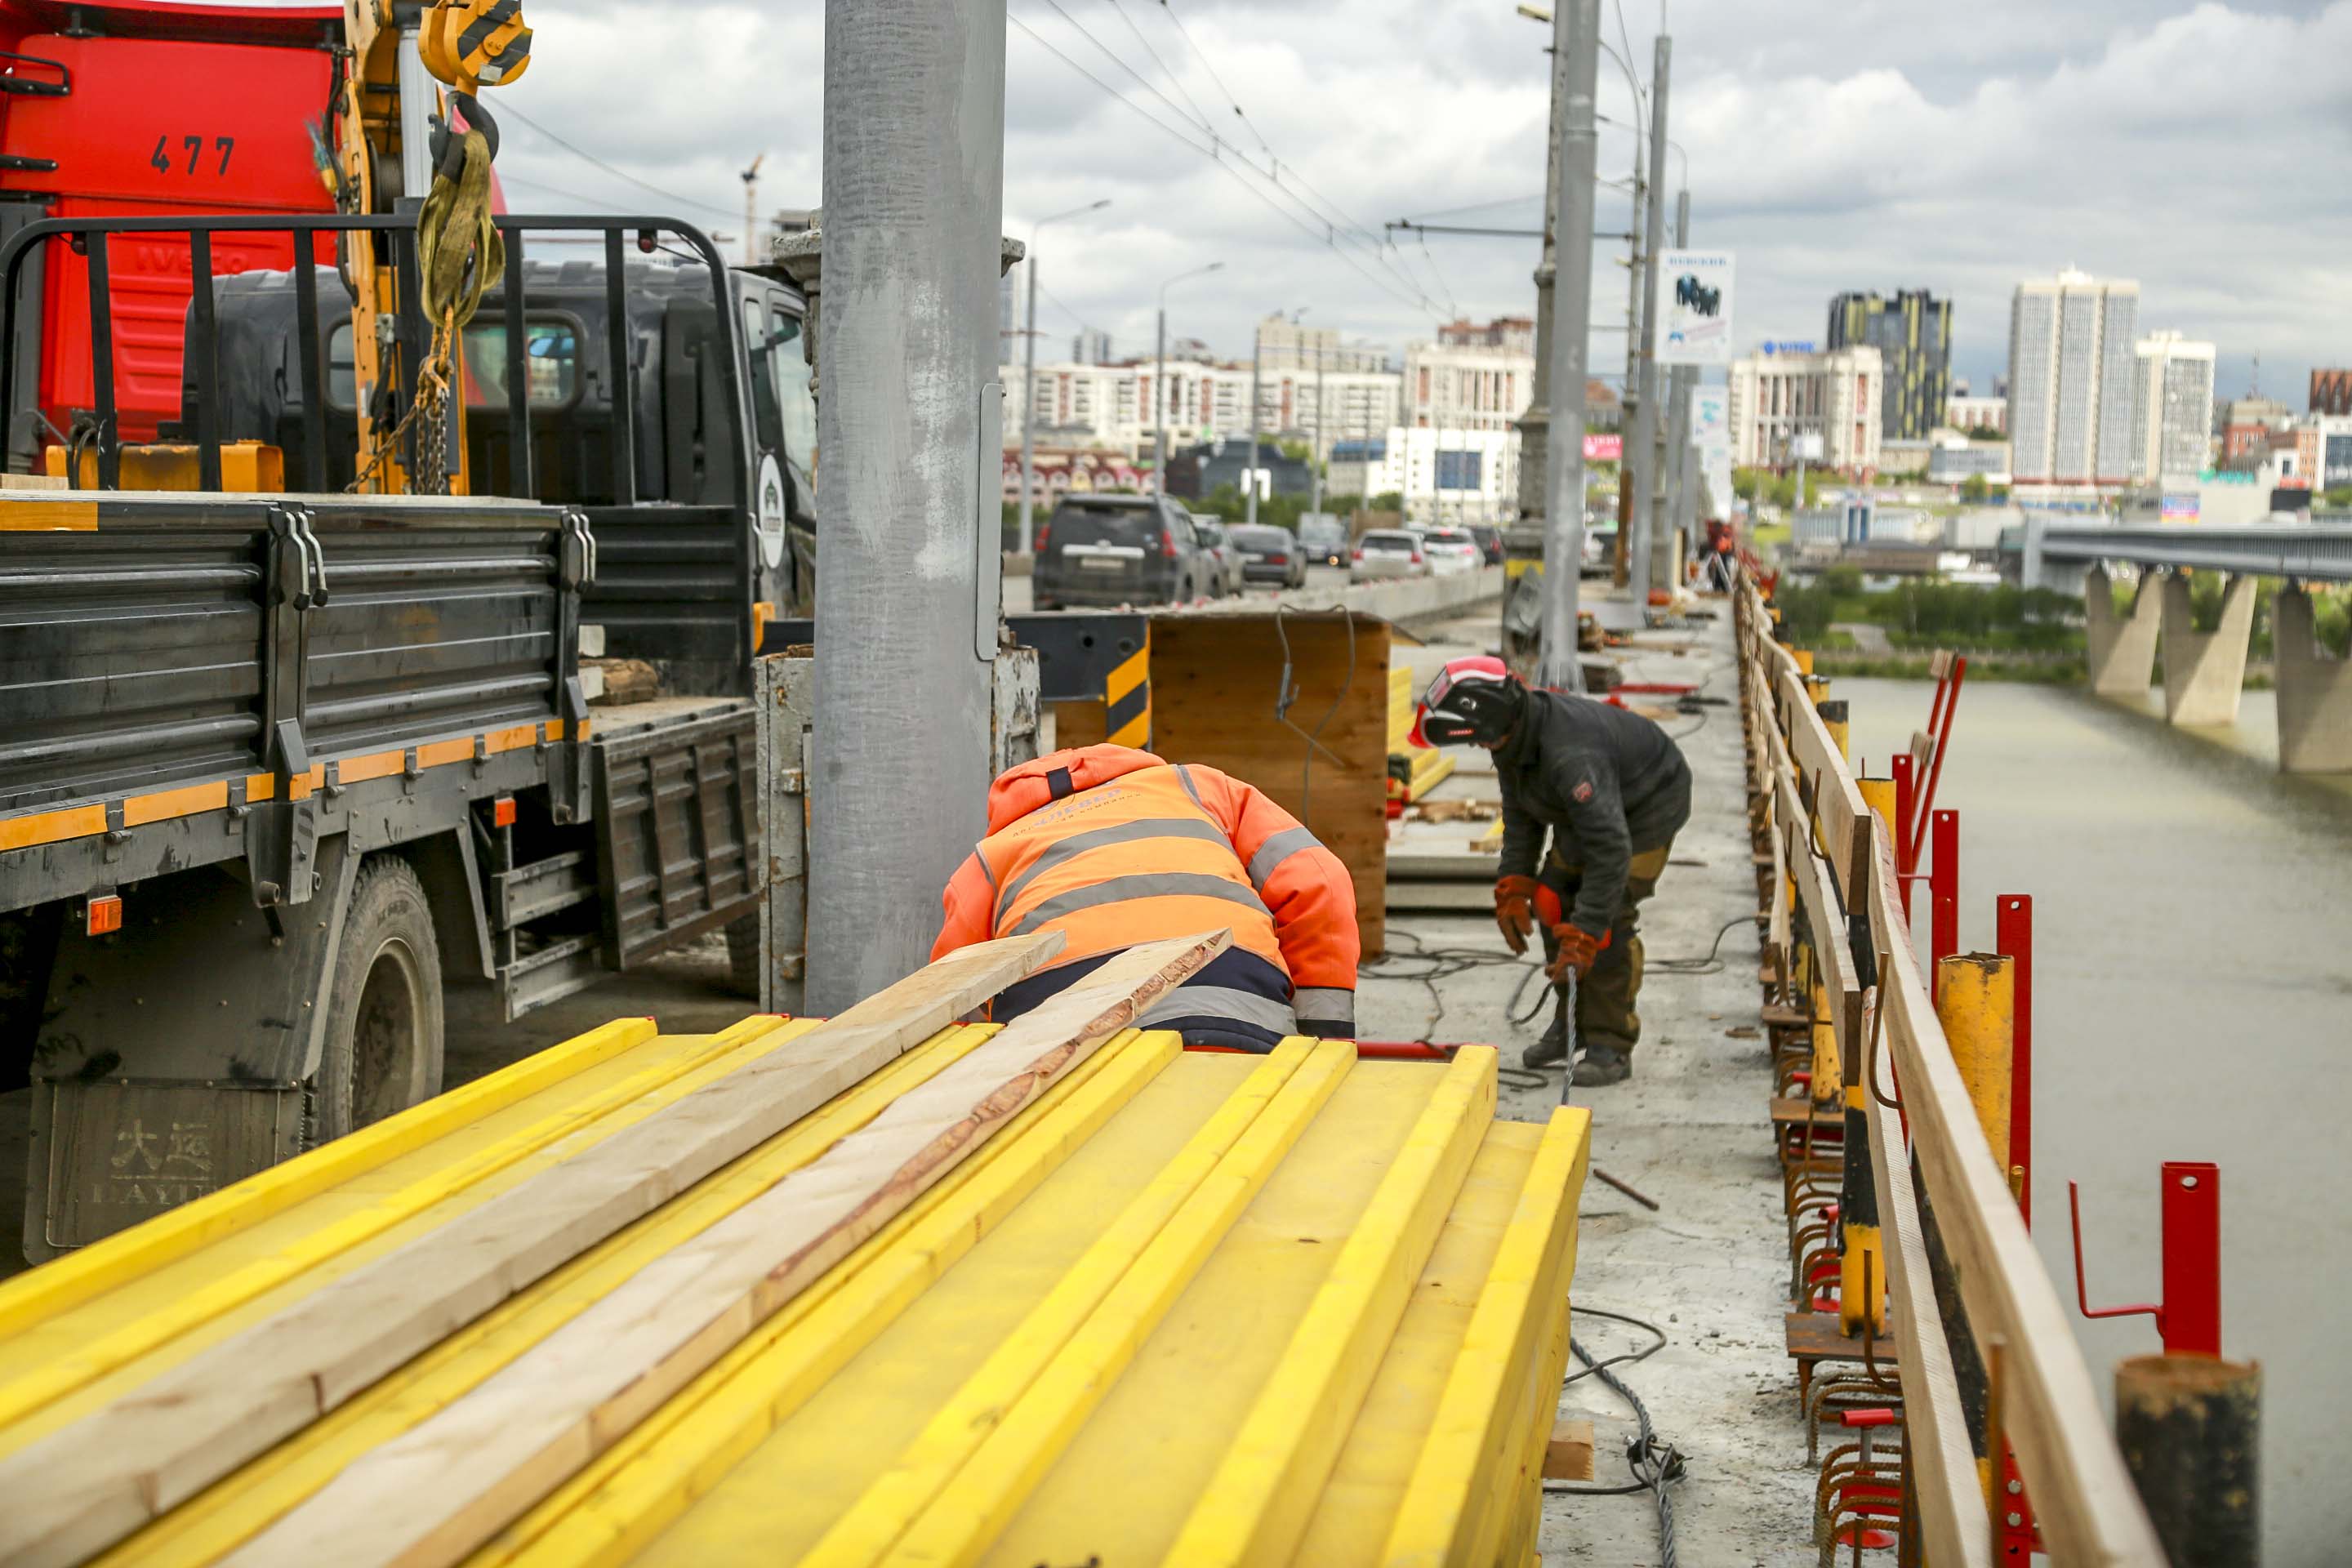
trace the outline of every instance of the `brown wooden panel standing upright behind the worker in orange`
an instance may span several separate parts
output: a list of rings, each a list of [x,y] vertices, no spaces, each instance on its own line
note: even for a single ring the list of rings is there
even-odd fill
[[[1350,658],[1350,621],[1329,611],[1279,625],[1272,614],[1155,616],[1152,750],[1223,769],[1312,827],[1355,879],[1371,959],[1388,940],[1388,623],[1352,616],[1352,628]],[[1289,724],[1275,717],[1284,668],[1298,689]],[[1317,724],[1329,755],[1298,733]]]

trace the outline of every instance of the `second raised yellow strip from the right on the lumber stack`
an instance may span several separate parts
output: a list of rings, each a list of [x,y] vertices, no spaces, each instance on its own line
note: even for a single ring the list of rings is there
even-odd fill
[[[1425,1067],[1376,1072],[1428,1077]],[[1171,1561],[1289,1561],[1494,1121],[1494,1091],[1491,1046],[1465,1048],[1444,1067],[1315,1305],[1291,1331],[1279,1371],[1192,1507]]]

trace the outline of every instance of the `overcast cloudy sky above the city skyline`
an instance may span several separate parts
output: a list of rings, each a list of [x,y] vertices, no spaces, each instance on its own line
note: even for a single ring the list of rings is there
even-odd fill
[[[1040,244],[1044,350],[1087,324],[1148,353],[1160,284],[1209,261],[1225,270],[1171,296],[1171,331],[1223,353],[1270,310],[1395,350],[1454,310],[1531,308],[1531,240],[1383,249],[1381,228],[1472,205],[1451,221],[1541,219],[1550,28],[1510,0],[1011,14],[1007,233],[1112,202]],[[1926,287],[1955,299],[1957,371],[1990,390],[2011,287],[2079,266],[2138,277],[2143,329],[2213,339],[2225,395],[2253,355],[2293,407],[2312,364],[2352,362],[2352,0],[1604,0],[1604,16],[1644,85],[1651,38],[1675,33],[1691,233],[1738,252],[1743,346],[1818,339],[1837,289]],[[513,129],[513,205],[642,207],[652,188],[741,233],[736,174],[757,153],[762,207],[818,202],[823,5],[670,0],[647,21],[619,0],[532,12],[532,75],[499,103],[550,134]],[[1602,113],[1632,120],[1606,59]],[[1221,160],[1197,150],[1211,136]],[[1282,188],[1251,162],[1279,162]],[[1604,179],[1630,165],[1604,125]],[[1623,230],[1625,197],[1602,195],[1597,226]],[[1623,296],[1604,268],[1595,320]],[[1595,331],[1595,367],[1621,355],[1623,334]]]

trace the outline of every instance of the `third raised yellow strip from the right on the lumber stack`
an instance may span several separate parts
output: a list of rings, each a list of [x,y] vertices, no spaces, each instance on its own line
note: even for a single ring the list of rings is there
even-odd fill
[[[802,1568],[870,1563],[931,1505],[993,1427],[993,1415],[1018,1401],[1037,1373],[1136,1265],[1169,1218],[1216,1171],[1228,1150],[1256,1124],[1282,1086],[1308,1060],[1310,1044],[1284,1041],[1223,1107],[1160,1168],[1143,1192],[1087,1255],[1063,1274],[997,1352],[931,1418],[906,1453],[849,1507]]]

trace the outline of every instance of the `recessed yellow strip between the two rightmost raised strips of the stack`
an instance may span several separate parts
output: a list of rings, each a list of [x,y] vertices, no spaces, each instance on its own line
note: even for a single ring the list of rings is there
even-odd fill
[[[1291,1554],[1298,1568],[1376,1563],[1404,1486],[1421,1460],[1421,1439],[1437,1415],[1446,1373],[1461,1352],[1479,1291],[1494,1267],[1510,1215],[1543,1145],[1534,1121],[1491,1121],[1470,1161],[1411,1300],[1388,1342],[1381,1373],[1348,1432],[1315,1516]]]

